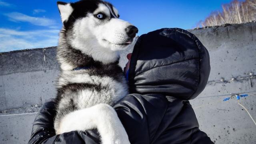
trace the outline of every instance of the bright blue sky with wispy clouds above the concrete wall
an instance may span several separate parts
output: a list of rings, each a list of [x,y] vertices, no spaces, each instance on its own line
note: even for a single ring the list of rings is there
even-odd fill
[[[76,2],[77,0],[63,0]],[[138,35],[159,28],[191,29],[231,0],[108,0]],[[57,0],[0,0],[0,52],[56,46],[62,27]]]

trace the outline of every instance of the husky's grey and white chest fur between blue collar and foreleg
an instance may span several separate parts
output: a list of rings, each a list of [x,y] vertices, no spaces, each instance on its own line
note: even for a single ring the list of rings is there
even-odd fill
[[[128,92],[120,73],[122,70],[115,72],[118,67],[113,64],[106,68],[63,71],[57,83],[59,108],[81,109],[100,103],[113,105]]]

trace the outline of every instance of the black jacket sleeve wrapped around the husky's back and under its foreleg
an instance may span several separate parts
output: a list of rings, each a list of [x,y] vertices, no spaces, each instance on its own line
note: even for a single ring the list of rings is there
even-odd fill
[[[96,130],[72,131],[55,135],[55,102],[46,102],[34,120],[28,144],[100,144]]]

